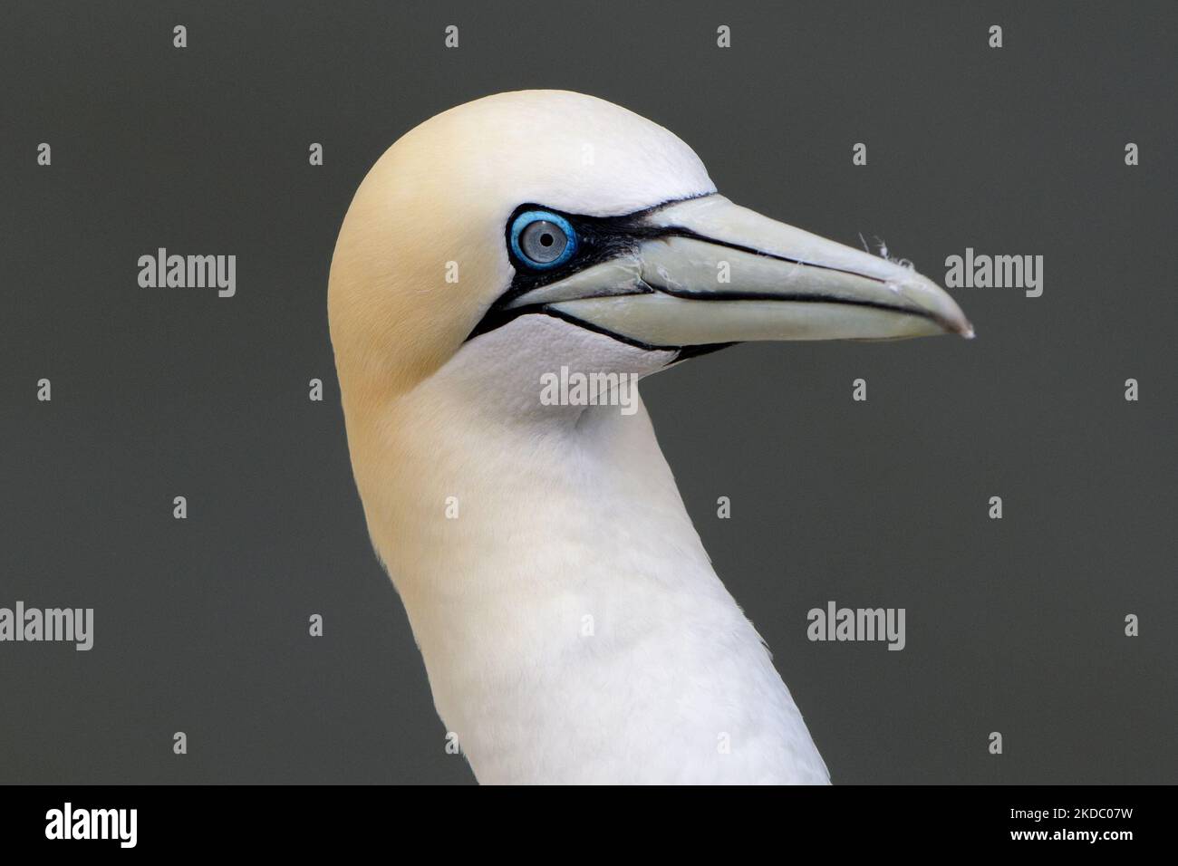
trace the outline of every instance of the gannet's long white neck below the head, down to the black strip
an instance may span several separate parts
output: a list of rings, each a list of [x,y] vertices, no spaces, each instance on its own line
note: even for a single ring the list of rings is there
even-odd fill
[[[479,781],[823,780],[641,399],[540,411],[521,376],[344,392],[369,531]]]

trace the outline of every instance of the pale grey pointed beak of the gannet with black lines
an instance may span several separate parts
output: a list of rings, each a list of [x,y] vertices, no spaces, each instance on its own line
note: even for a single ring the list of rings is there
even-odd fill
[[[631,251],[512,299],[650,348],[762,339],[972,337],[911,267],[762,217],[722,196],[644,217]]]

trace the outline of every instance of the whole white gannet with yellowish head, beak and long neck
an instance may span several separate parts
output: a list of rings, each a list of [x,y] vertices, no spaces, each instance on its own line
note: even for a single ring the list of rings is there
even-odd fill
[[[626,108],[523,91],[377,160],[329,322],[368,530],[479,782],[829,782],[641,401],[551,405],[541,382],[744,341],[972,336],[945,291],[733,204]]]

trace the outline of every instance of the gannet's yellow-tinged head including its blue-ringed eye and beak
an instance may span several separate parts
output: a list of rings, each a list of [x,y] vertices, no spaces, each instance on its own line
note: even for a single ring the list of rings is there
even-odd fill
[[[392,145],[344,219],[329,313],[345,406],[456,357],[535,383],[744,341],[972,336],[909,267],[733,204],[673,133],[562,91],[468,103]]]

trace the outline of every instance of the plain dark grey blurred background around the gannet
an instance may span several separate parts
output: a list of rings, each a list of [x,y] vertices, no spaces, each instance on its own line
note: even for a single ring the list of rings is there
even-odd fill
[[[522,87],[620,103],[729,198],[937,279],[1045,257],[1041,298],[953,292],[973,343],[739,346],[643,394],[836,782],[1178,780],[1172,2],[100,6],[0,26],[0,606],[97,633],[0,644],[0,781],[471,781],[365,535],[325,292],[384,148]],[[158,246],[236,253],[237,297],[140,289]],[[907,649],[810,643],[830,599],[907,608]]]

